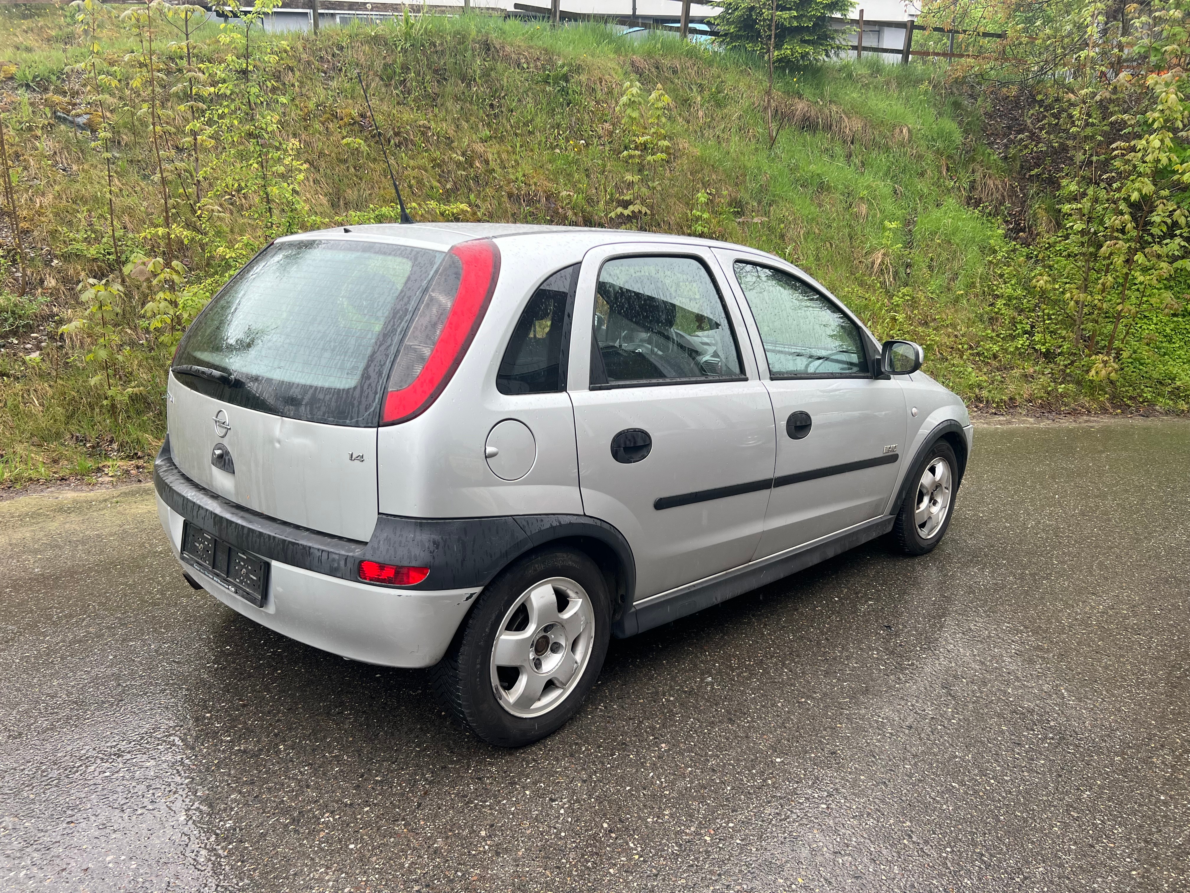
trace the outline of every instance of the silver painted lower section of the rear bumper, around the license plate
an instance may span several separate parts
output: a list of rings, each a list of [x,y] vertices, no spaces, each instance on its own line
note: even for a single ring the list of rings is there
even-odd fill
[[[268,593],[256,607],[182,558],[184,519],[159,495],[157,514],[182,568],[227,607],[283,636],[365,663],[437,663],[481,589],[376,587],[273,561]]]

